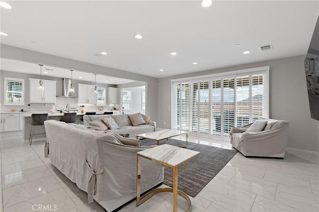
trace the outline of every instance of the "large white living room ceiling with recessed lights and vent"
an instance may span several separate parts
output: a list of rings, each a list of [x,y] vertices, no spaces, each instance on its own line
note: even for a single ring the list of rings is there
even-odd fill
[[[1,43],[157,78],[306,54],[319,14],[318,0],[6,2]]]

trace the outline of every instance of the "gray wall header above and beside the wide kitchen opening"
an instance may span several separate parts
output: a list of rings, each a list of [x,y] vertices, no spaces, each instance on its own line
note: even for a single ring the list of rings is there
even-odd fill
[[[134,74],[131,72],[112,69],[104,66],[99,66],[91,63],[85,63],[77,60],[67,59],[64,57],[58,57],[54,55],[35,52],[27,49],[22,49],[9,45],[0,45],[1,58],[20,60],[35,64],[45,64],[47,66],[53,66],[57,68],[73,69],[83,72],[96,73],[111,77],[119,77],[125,79],[131,79],[136,81],[143,81],[147,83],[147,113],[151,115],[153,120],[157,120],[158,115],[158,79],[154,77],[148,77],[140,74]]]

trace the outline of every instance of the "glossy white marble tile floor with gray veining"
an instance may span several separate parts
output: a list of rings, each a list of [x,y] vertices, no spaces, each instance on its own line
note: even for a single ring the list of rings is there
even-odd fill
[[[183,136],[175,139],[185,140]],[[44,158],[44,141],[32,146],[21,136],[1,136],[0,212],[103,212],[87,194]],[[228,141],[189,136],[190,142],[230,149]],[[164,185],[162,185],[164,187]],[[237,153],[195,197],[192,212],[318,212],[319,164],[317,155],[287,152],[284,160],[245,158]],[[187,203],[178,198],[178,211]],[[56,208],[54,208],[54,206]],[[170,193],[160,193],[138,208],[135,202],[120,212],[169,212]]]

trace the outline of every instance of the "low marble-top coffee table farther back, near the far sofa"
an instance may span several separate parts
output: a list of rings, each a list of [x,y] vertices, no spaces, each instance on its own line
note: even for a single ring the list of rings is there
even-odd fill
[[[157,141],[157,144],[160,144],[160,140],[166,139],[166,143],[167,143],[167,139],[177,136],[177,135],[182,135],[182,134],[186,134],[186,146],[188,144],[188,132],[186,131],[181,131],[181,130],[176,130],[176,129],[161,129],[158,131],[154,131],[154,132],[148,132],[148,133],[143,133],[143,134],[138,134],[136,135],[136,139],[139,138],[147,138],[150,140],[155,140]]]

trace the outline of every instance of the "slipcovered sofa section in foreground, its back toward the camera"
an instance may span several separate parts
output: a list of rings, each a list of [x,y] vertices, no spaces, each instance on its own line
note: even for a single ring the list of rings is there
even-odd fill
[[[83,191],[112,212],[136,198],[137,152],[152,147],[123,145],[111,133],[83,129],[62,121],[44,122],[51,163]],[[163,182],[163,166],[142,159],[141,192]],[[96,190],[94,189],[96,185]]]

